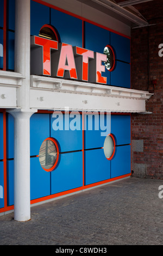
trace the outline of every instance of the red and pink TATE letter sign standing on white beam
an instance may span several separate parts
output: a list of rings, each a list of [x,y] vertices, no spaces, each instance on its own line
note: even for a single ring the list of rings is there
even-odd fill
[[[106,84],[107,55],[31,36],[31,74]]]

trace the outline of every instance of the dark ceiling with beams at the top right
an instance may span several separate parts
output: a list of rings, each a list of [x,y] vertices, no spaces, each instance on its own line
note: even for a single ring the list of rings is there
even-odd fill
[[[163,0],[77,0],[131,28],[163,23]],[[137,4],[136,4],[137,3]]]

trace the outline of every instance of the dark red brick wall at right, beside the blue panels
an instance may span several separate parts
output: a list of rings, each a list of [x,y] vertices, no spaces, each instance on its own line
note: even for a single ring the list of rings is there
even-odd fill
[[[137,176],[163,179],[163,57],[158,54],[158,46],[163,44],[163,19],[151,23],[156,25],[131,29],[131,88],[154,94],[146,102],[152,114],[132,114],[132,140],[143,141],[143,150],[133,148],[132,169]]]

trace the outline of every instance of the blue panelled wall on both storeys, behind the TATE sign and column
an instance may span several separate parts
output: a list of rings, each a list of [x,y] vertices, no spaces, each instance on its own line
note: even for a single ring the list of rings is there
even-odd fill
[[[0,0],[0,27],[3,27],[3,0]],[[7,32],[7,69],[14,70],[14,30],[15,0],[8,1]],[[83,47],[83,22],[76,17],[62,13],[31,1],[31,35],[38,35],[45,24],[53,25],[61,42]],[[115,70],[106,70],[102,76],[112,86],[130,88],[130,40],[109,32],[106,29],[84,22],[85,48],[103,53],[104,47],[110,44],[116,54]],[[3,29],[0,28],[0,44],[3,45]],[[3,68],[3,57],[0,57],[0,68]],[[54,118],[51,114],[34,114],[30,118],[30,156],[39,155],[42,142],[47,137],[54,137],[59,144],[60,157],[58,167],[53,172],[41,168],[39,157],[30,158],[31,199],[59,193],[83,186],[83,148],[82,115],[79,130],[66,130],[71,121],[63,119],[63,130],[53,129]],[[106,123],[105,123],[106,124]],[[109,124],[110,126],[110,124]],[[100,127],[100,123],[99,123]],[[116,152],[111,161],[105,158],[101,149],[105,136],[102,129],[86,130],[85,149],[85,185],[115,178],[130,173],[130,116],[112,115],[111,133],[116,138]],[[3,177],[3,114],[0,113],[0,186],[4,186]],[[100,149],[95,149],[100,148]],[[69,153],[65,153],[69,152]],[[7,114],[7,182],[8,205],[14,204],[14,118]],[[0,187],[1,188],[1,187]],[[0,194],[1,195],[1,194]],[[0,198],[0,208],[4,207],[4,198]]]

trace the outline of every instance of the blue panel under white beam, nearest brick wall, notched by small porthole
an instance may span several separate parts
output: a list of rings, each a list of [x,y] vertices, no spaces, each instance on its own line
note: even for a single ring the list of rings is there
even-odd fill
[[[130,115],[111,115],[111,133],[116,145],[131,143]]]

